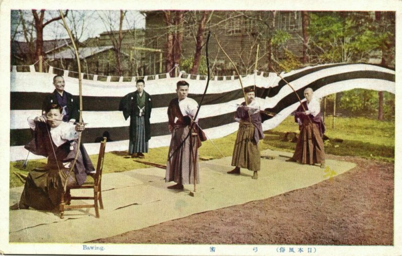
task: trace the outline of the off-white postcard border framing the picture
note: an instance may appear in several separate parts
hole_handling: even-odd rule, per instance
[[[331,245],[301,245],[302,247],[316,247],[318,253],[312,255],[400,255],[401,245],[401,179],[402,179],[402,125],[401,125],[401,51],[402,38],[402,1],[397,0],[338,0],[338,1],[312,1],[312,0],[274,0],[274,1],[241,1],[230,0],[230,5],[224,1],[113,1],[113,7],[128,10],[229,10],[228,7],[236,7],[237,10],[332,10],[332,11],[395,11],[396,12],[396,62],[395,62],[395,185],[394,185],[394,245],[393,246],[331,246]],[[103,251],[89,251],[82,249],[84,244],[49,244],[49,243],[9,243],[9,160],[10,160],[10,11],[14,9],[71,9],[92,10],[94,6],[98,10],[107,10],[111,7],[111,1],[27,1],[27,0],[3,0],[0,2],[0,72],[1,72],[1,100],[0,106],[2,130],[0,139],[1,171],[0,171],[0,254],[138,254],[138,255],[288,255],[289,253],[276,252],[281,245],[257,245],[257,252],[250,252],[250,248],[256,245],[150,245],[150,244],[94,244],[104,246]],[[222,234],[224,235],[224,234]],[[216,247],[215,252],[209,250],[210,246]],[[289,247],[290,245],[285,245]],[[294,247],[297,247],[295,245]],[[294,255],[299,253],[294,253]],[[303,254],[305,255],[305,254]]]

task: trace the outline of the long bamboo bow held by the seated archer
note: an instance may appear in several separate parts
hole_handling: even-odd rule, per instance
[[[67,30],[68,36],[69,36],[70,39],[71,39],[71,43],[72,43],[72,46],[74,47],[74,51],[75,51],[75,57],[77,58],[77,64],[78,64],[78,86],[79,86],[79,122],[82,122],[82,81],[81,81],[81,63],[80,63],[80,61],[79,61],[78,49],[77,49],[77,46],[75,45],[75,42],[74,42],[74,38],[73,38],[73,36],[72,36],[72,33],[71,33],[70,29],[68,28],[67,23],[66,23],[65,20],[64,20],[64,15],[63,15],[63,13],[61,12],[61,10],[59,10],[59,13],[60,13],[61,20],[63,21],[64,28]],[[81,134],[82,134],[81,132],[78,133],[77,152],[75,153],[74,161],[72,162],[72,165],[71,165],[71,167],[70,167],[70,172],[68,173],[67,179],[66,179],[66,181],[65,181],[65,184],[64,184],[64,191],[66,191],[66,188],[67,188],[67,180],[68,180],[68,177],[69,177],[69,176],[71,175],[71,173],[73,172],[75,163],[77,162],[77,158],[78,158],[78,154],[79,154],[80,146],[81,146]]]

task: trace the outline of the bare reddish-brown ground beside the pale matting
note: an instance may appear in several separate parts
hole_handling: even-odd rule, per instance
[[[159,244],[393,244],[393,163],[354,162],[314,186],[94,240]]]

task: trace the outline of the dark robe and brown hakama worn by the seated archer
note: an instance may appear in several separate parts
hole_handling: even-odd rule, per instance
[[[25,148],[35,155],[48,157],[48,163],[43,169],[29,172],[20,203],[38,210],[51,210],[60,203],[60,194],[67,177],[67,187],[82,185],[87,173],[94,168],[83,146],[78,149],[78,139],[66,141],[57,147],[47,124],[35,123],[34,139]],[[77,150],[79,152],[73,173],[68,175]]]

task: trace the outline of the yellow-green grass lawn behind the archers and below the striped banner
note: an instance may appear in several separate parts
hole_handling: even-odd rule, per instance
[[[394,121],[378,121],[364,117],[336,117],[335,129],[332,129],[332,123],[332,117],[327,117],[325,135],[329,137],[329,140],[325,142],[326,153],[339,156],[358,156],[387,162],[394,160]],[[260,143],[260,150],[273,149],[293,152],[295,143],[283,140],[286,132],[298,132],[298,126],[293,122],[293,116],[288,116],[275,129],[265,132],[264,141]],[[224,138],[213,140],[225,156],[232,155],[236,134],[233,133]],[[339,140],[335,139],[341,139],[343,142],[337,142]],[[166,165],[168,149],[168,147],[150,149],[144,161]],[[125,158],[127,154],[127,151],[106,153],[104,173],[150,167],[134,162],[131,158]],[[222,155],[210,141],[207,141],[203,142],[203,146],[199,148],[199,157],[217,159],[222,158]],[[92,163],[96,164],[97,155],[91,155],[90,158]],[[26,169],[22,168],[23,162],[10,162],[10,187],[23,185],[23,182],[13,172],[27,175],[29,170],[43,167],[47,160],[31,160]]]

